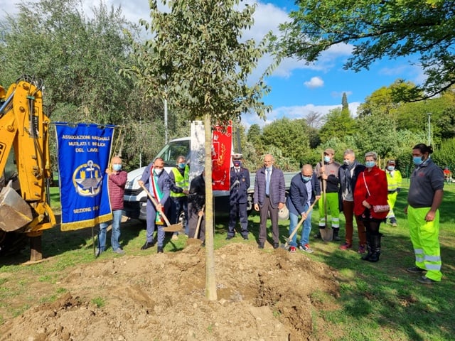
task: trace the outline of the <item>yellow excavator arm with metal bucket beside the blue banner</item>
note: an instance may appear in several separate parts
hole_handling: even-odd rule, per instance
[[[43,258],[41,236],[54,227],[49,205],[52,176],[43,82],[24,75],[0,86],[0,256],[30,241],[30,261]]]

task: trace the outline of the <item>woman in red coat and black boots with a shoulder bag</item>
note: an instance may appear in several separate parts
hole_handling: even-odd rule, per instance
[[[379,225],[385,221],[388,210],[375,212],[373,206],[387,205],[387,177],[385,171],[376,166],[378,154],[365,154],[365,171],[358,175],[354,189],[354,214],[363,221],[367,233],[367,251],[364,261],[379,261],[381,236]]]

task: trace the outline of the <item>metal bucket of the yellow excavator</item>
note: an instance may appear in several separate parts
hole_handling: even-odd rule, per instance
[[[13,232],[33,220],[30,205],[11,187],[0,192],[0,229]]]

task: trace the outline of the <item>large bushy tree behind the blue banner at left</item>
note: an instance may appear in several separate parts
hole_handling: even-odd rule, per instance
[[[44,82],[44,109],[53,121],[124,126],[126,163],[139,151],[156,153],[159,141],[144,144],[139,137],[145,129],[149,134],[161,109],[118,72],[131,63],[130,38],[138,37],[120,8],[100,1],[89,17],[79,0],[22,1],[16,15],[0,22],[0,32],[0,84],[35,75]]]

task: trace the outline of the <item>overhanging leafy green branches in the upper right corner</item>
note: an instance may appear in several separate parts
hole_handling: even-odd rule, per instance
[[[344,65],[359,71],[380,58],[417,55],[427,80],[422,88],[402,92],[422,99],[455,83],[455,7],[449,0],[346,1],[301,0],[291,22],[282,25],[279,48],[308,62],[340,43],[354,45]],[[425,91],[422,92],[422,89]]]

